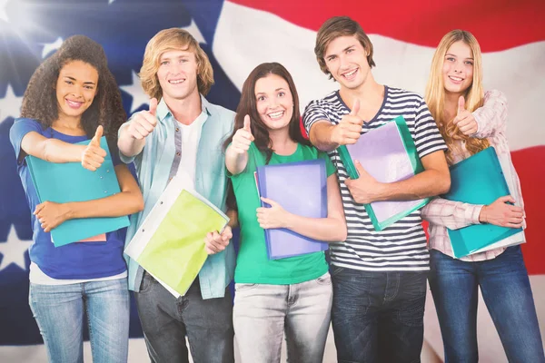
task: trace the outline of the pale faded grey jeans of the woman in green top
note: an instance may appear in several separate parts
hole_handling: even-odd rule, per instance
[[[234,334],[242,363],[322,362],[332,309],[332,280],[292,285],[235,284]]]

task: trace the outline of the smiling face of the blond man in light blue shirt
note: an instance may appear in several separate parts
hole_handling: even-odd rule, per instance
[[[184,100],[199,92],[198,64],[193,52],[181,50],[165,52],[159,58],[159,64],[157,78],[166,103]]]

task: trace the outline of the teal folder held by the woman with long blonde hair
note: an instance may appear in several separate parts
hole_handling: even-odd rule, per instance
[[[451,191],[442,197],[449,201],[490,204],[505,195],[510,195],[509,187],[498,154],[490,146],[451,166]],[[456,258],[467,256],[520,231],[521,228],[500,227],[490,223],[448,230]]]

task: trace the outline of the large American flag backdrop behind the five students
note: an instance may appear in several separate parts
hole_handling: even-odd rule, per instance
[[[46,361],[28,307],[30,211],[8,137],[38,64],[70,35],[93,38],[104,46],[125,111],[134,113],[148,103],[137,76],[145,44],[159,30],[182,27],[213,64],[209,101],[234,110],[253,67],[275,61],[291,72],[303,108],[338,87],[322,74],[313,54],[316,31],[332,15],[349,15],[370,34],[379,83],[421,94],[443,34],[461,28],[479,40],[485,89],[499,89],[509,102],[508,139],[528,222],[522,249],[545,335],[545,233],[540,229],[545,206],[545,1],[0,0],[1,362]],[[507,361],[482,300],[480,304],[481,361]],[[425,324],[425,361],[440,362],[441,333],[431,295]],[[131,338],[129,361],[147,361],[135,309]],[[330,337],[324,362],[334,361]]]

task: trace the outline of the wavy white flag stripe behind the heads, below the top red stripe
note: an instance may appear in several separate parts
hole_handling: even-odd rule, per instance
[[[252,31],[248,31],[252,29]],[[434,48],[370,34],[373,69],[379,83],[424,93]],[[313,53],[316,33],[277,15],[230,2],[223,4],[213,40],[213,54],[241,89],[253,67],[279,62],[292,74],[301,108],[338,85],[322,74]],[[545,42],[483,54],[485,89],[498,89],[509,102],[511,150],[545,144]],[[301,110],[301,111],[302,111]]]

